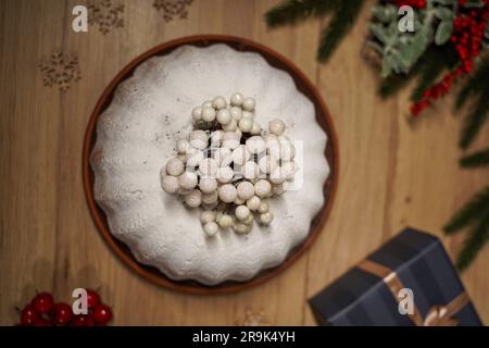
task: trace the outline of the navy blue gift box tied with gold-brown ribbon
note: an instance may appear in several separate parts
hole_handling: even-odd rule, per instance
[[[321,325],[482,325],[440,240],[413,228],[309,302]]]

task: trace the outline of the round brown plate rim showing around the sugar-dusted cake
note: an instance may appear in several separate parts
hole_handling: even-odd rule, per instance
[[[315,105],[316,121],[328,136],[325,156],[330,165],[330,174],[323,186],[324,204],[317,215],[311,222],[311,231],[308,238],[298,247],[289,252],[287,259],[278,266],[262,271],[254,278],[247,282],[224,282],[216,286],[205,286],[193,281],[173,281],[165,276],[158,269],[141,264],[136,261],[129,248],[116,239],[109,231],[106,216],[102,209],[97,204],[93,197],[93,172],[91,171],[89,158],[93,145],[96,142],[96,125],[99,115],[109,107],[113,98],[113,94],[117,85],[124,79],[130,77],[135,69],[147,59],[153,55],[164,55],[178,48],[181,45],[193,45],[198,47],[206,47],[213,44],[226,44],[239,51],[250,51],[260,53],[272,66],[281,69],[290,74],[297,88],[304,94]],[[223,294],[235,293],[261,284],[274,275],[277,275],[296,261],[316,239],[323,229],[326,219],[331,209],[335,198],[336,187],[338,186],[338,142],[333,126],[331,117],[326,109],[326,104],[322,100],[319,92],[308,77],[287,58],[264,47],[260,44],[248,39],[220,36],[220,35],[200,35],[176,39],[166,44],[162,44],[148,52],[139,55],[115,76],[103,91],[88,122],[87,133],[85,135],[84,153],[83,153],[83,177],[84,189],[87,196],[88,208],[93,216],[95,223],[102,235],[105,243],[117,254],[117,257],[130,269],[136,271],[142,277],[170,288],[172,290],[191,293],[191,294]]]

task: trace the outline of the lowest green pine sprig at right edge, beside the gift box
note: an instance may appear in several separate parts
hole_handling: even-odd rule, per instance
[[[474,261],[477,253],[489,239],[489,212],[482,216],[477,226],[474,227],[465,239],[461,252],[457,256],[456,268],[464,271]]]

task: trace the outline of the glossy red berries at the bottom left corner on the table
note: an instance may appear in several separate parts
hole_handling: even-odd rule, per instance
[[[54,303],[49,293],[38,294],[21,311],[22,326],[105,326],[112,319],[109,307],[100,301],[100,296],[87,289],[88,314],[74,314],[67,303]]]

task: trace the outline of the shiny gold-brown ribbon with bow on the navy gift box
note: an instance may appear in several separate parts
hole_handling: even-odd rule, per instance
[[[394,271],[369,260],[363,260],[358,264],[358,268],[380,277],[396,300],[398,300],[399,291],[405,286]],[[413,313],[408,313],[408,316],[416,326],[456,326],[459,320],[453,318],[453,315],[464,308],[468,301],[468,296],[464,291],[447,304],[432,306],[428,310],[426,318],[423,318],[416,304],[414,304]]]

